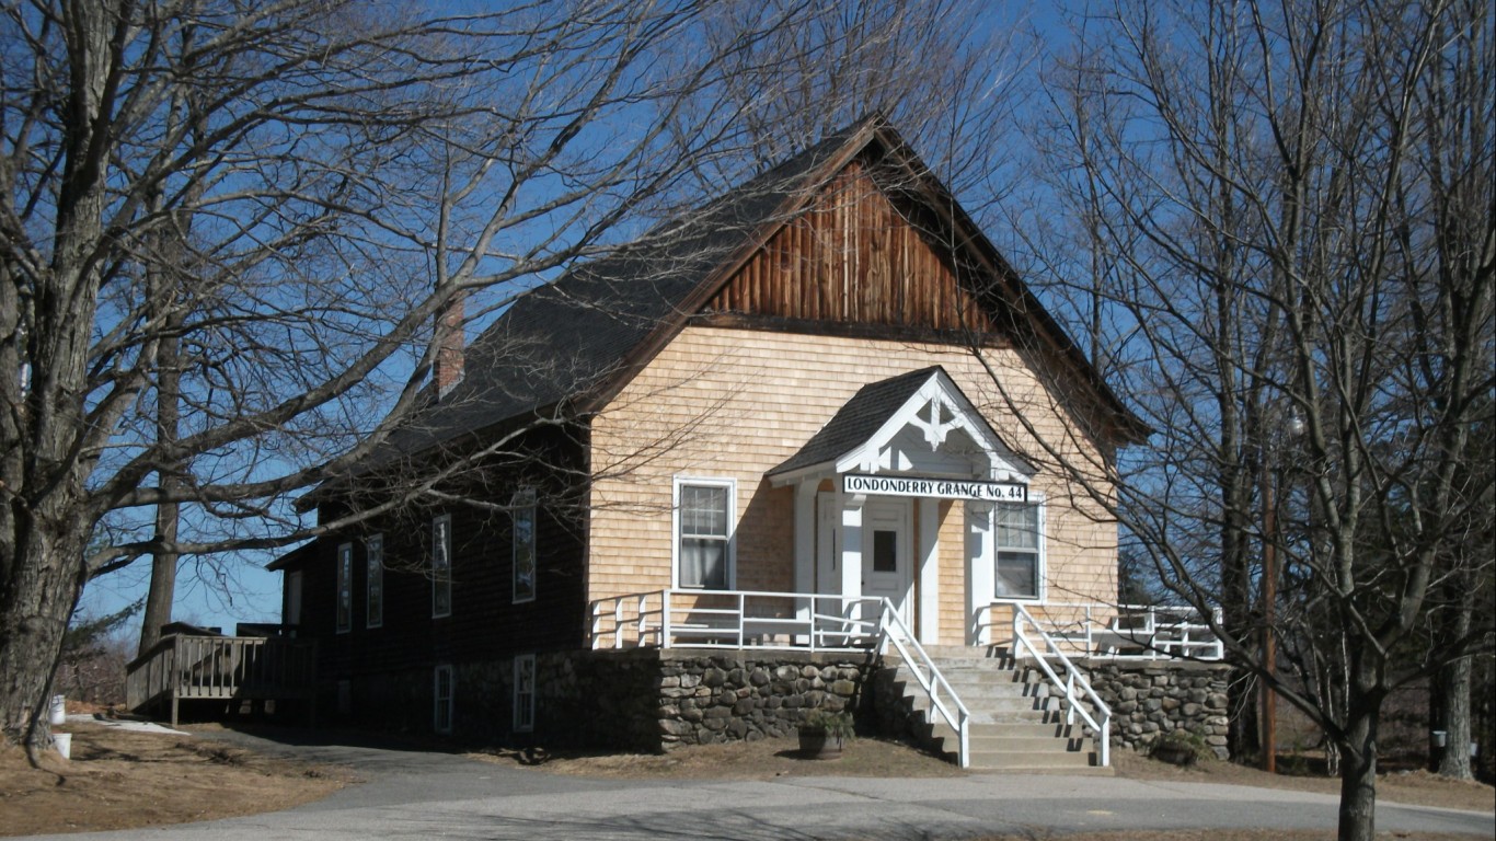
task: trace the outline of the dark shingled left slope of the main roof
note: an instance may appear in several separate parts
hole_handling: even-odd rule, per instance
[[[868,118],[838,132],[690,217],[521,296],[467,347],[462,382],[419,410],[362,468],[595,394],[651,334],[690,316],[693,293],[745,259],[824,180],[815,175],[860,148],[878,123]]]

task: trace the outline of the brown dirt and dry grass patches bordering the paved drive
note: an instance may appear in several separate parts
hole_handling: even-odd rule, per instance
[[[347,769],[311,766],[257,756],[212,741],[217,727],[193,736],[135,733],[99,724],[69,724],[73,760],[49,757],[33,769],[18,750],[0,753],[0,835],[124,829],[254,814],[325,798],[356,783]],[[437,745],[434,745],[437,747]],[[682,748],[666,756],[546,756],[485,750],[467,756],[515,763],[534,774],[573,774],[612,778],[775,778],[787,775],[838,777],[959,777],[957,768],[905,745],[860,738],[847,742],[839,760],[802,760],[793,741]],[[452,750],[440,745],[440,750]],[[1174,768],[1138,756],[1115,754],[1116,772],[1138,780],[1225,783],[1334,793],[1337,781],[1322,777],[1269,777],[1231,763],[1210,762]],[[165,796],[171,793],[171,796]],[[1490,786],[1442,780],[1414,772],[1378,781],[1378,796],[1402,804],[1493,811]],[[1252,829],[1210,832],[1085,834],[1067,841],[1310,841],[1324,834],[1263,832]],[[1384,838],[1454,841],[1454,835],[1384,834]],[[1040,841],[1043,837],[995,837],[992,841]]]

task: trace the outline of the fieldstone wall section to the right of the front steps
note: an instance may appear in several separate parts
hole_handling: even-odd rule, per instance
[[[1219,759],[1227,748],[1224,663],[1091,660],[1082,667],[1112,708],[1112,745],[1149,753],[1174,730],[1204,738]]]

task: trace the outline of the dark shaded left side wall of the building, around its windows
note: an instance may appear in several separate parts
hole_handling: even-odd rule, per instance
[[[546,461],[570,464],[570,470],[555,471],[549,483],[498,471],[491,480],[474,482],[467,495],[503,504],[521,485],[540,485],[536,599],[513,602],[513,522],[507,512],[453,503],[378,518],[352,536],[325,539],[302,579],[304,633],[320,640],[325,681],[582,645],[583,530],[576,522],[574,489],[560,483],[574,474],[580,447],[557,432],[531,438],[549,438],[537,443],[546,449]],[[443,513],[452,518],[452,614],[434,618],[432,521]],[[365,540],[373,534],[384,540],[384,618],[375,629],[367,627],[365,599]],[[353,543],[353,623],[347,633],[337,633],[337,549],[343,543]]]

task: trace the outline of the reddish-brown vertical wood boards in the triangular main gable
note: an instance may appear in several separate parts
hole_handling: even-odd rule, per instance
[[[992,331],[944,250],[857,163],[769,238],[708,305],[744,313],[931,331]]]

